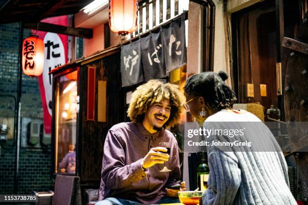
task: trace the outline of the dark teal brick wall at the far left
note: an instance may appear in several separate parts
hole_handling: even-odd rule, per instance
[[[6,1],[0,1],[0,5]],[[24,31],[24,38],[31,34]],[[0,95],[17,96],[17,72],[19,52],[19,24],[0,25]],[[0,121],[14,117],[12,97],[0,96]],[[21,117],[42,119],[42,105],[38,80],[23,74]],[[14,128],[12,128],[14,129]],[[0,142],[0,194],[14,192],[14,173],[16,168],[16,147],[4,147],[13,140]],[[20,148],[19,155],[19,193],[32,193],[32,190],[52,189],[50,179],[50,150],[31,150]]]

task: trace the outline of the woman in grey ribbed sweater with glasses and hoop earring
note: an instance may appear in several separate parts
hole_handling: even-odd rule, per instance
[[[234,130],[248,122],[251,128],[240,138],[228,138],[219,133],[207,136],[210,174],[200,204],[296,204],[289,190],[287,165],[277,141],[255,115],[233,110],[236,95],[225,84],[227,77],[223,71],[218,74],[204,72],[191,76],[185,84],[187,101],[184,108],[200,127],[210,129],[222,125],[224,130]],[[250,132],[246,132],[248,130]],[[221,148],[217,145],[220,140],[248,138],[261,141],[266,151],[256,147]]]

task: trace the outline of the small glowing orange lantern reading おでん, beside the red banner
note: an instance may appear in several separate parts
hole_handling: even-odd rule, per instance
[[[30,77],[42,74],[44,66],[44,42],[36,36],[30,36],[23,42],[23,71]]]

